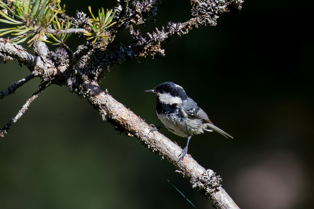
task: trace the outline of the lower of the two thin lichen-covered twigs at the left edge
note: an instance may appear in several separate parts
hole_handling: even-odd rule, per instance
[[[52,80],[52,79],[51,79]],[[8,129],[11,128],[11,126],[22,117],[24,112],[27,110],[28,106],[30,106],[30,103],[34,101],[38,97],[38,94],[40,94],[42,91],[44,91],[48,86],[52,84],[52,81],[45,81],[41,83],[39,89],[33,93],[33,95],[26,101],[26,103],[23,105],[22,109],[19,110],[18,114],[12,118],[5,126],[0,129],[0,138],[4,137],[4,134],[8,133]]]

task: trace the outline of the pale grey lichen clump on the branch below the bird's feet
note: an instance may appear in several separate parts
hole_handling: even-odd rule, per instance
[[[192,179],[191,184],[193,189],[204,197],[209,198],[212,193],[219,191],[221,177],[219,175],[216,176],[213,170],[208,169],[206,171],[201,177]]]

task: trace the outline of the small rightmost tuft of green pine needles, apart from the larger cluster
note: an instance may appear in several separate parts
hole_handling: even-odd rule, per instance
[[[109,11],[107,9],[106,13],[104,8],[101,8],[101,12],[100,9],[98,10],[98,17],[95,18],[94,14],[91,11],[91,8],[88,7],[90,14],[92,15],[92,18],[90,18],[88,20],[88,23],[90,25],[90,27],[92,28],[92,32],[88,32],[88,31],[84,31],[84,35],[88,36],[89,38],[87,38],[87,40],[90,39],[94,39],[93,40],[93,44],[98,41],[100,38],[107,38],[106,34],[105,34],[105,29],[109,28],[110,26],[114,25],[116,22],[111,23],[115,12],[112,13],[112,9]]]

